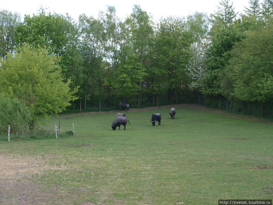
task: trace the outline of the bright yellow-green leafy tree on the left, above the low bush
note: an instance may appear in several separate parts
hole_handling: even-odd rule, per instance
[[[0,91],[25,103],[36,119],[58,114],[77,91],[69,88],[70,79],[63,82],[58,62],[45,48],[23,44],[1,62]]]

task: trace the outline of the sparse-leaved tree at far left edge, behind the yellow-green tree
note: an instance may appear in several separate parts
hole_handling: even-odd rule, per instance
[[[18,13],[0,11],[0,55],[2,59],[5,59],[5,55],[12,53],[15,49],[15,29],[19,21]]]

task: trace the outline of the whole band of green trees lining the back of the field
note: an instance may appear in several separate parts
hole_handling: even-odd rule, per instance
[[[77,20],[41,8],[21,21],[1,10],[0,97],[17,98],[34,121],[121,101],[186,103],[194,92],[271,103],[273,1],[248,3],[244,14],[222,0],[209,16],[158,22],[140,5],[125,19],[114,6]]]

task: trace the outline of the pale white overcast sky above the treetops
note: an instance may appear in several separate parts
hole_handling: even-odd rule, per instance
[[[222,0],[221,0],[222,1]],[[235,12],[244,12],[244,6],[248,7],[249,0],[230,0],[233,2]],[[106,11],[107,6],[115,6],[116,14],[120,18],[125,18],[132,13],[133,5],[140,5],[142,10],[150,13],[157,21],[160,17],[167,16],[187,16],[197,12],[205,12],[208,15],[214,13],[219,5],[219,0],[3,0],[0,9],[11,12],[25,14],[37,14],[41,5],[48,8],[46,11],[65,15],[68,13],[75,20],[80,14],[97,17],[99,10]]]

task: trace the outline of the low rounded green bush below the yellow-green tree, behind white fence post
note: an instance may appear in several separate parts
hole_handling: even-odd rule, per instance
[[[6,97],[0,94],[0,134],[8,133],[10,125],[11,133],[26,133],[28,123],[31,121],[31,113],[24,103],[17,98]]]

